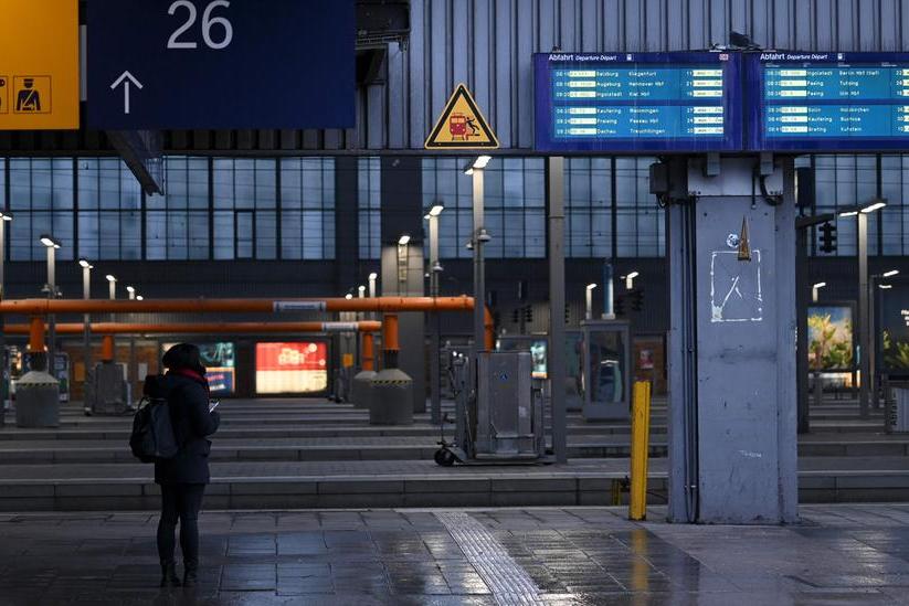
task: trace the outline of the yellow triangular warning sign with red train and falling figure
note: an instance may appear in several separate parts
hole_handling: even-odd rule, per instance
[[[426,149],[496,149],[499,142],[467,87],[458,84],[426,138]]]

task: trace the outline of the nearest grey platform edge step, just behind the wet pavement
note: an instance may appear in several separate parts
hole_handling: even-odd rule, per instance
[[[905,501],[909,471],[881,459],[808,459],[799,474],[800,500]],[[814,461],[824,461],[823,465]],[[804,463],[804,461],[803,461]],[[832,464],[833,465],[829,465]],[[155,510],[159,490],[150,466],[22,466],[0,468],[0,510]],[[627,459],[582,459],[567,466],[457,466],[431,461],[212,464],[208,509],[372,507],[530,507],[612,502]],[[652,461],[648,487],[666,493],[665,460]],[[651,502],[663,499],[651,497]]]

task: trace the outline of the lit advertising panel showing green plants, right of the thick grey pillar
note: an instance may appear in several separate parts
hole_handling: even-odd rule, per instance
[[[850,371],[855,366],[853,307],[808,306],[808,369]]]

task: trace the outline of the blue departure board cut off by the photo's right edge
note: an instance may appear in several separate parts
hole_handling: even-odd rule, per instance
[[[909,53],[746,55],[749,148],[909,149]]]

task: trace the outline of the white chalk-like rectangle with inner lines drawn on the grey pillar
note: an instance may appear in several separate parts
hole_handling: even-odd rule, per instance
[[[761,252],[751,251],[752,263],[739,261],[737,251],[714,251],[710,256],[710,321],[760,322]]]

